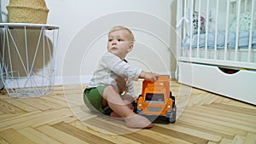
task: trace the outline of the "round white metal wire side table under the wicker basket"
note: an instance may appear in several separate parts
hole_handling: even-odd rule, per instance
[[[1,23],[1,78],[10,97],[38,97],[54,90],[59,27]]]

